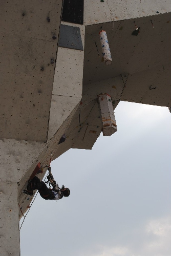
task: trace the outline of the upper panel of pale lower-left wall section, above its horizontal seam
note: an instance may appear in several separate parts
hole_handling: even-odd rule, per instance
[[[34,162],[35,157],[44,148],[44,143],[2,139],[0,140],[1,151],[1,181],[17,183],[27,169]],[[35,168],[35,167],[34,167]]]

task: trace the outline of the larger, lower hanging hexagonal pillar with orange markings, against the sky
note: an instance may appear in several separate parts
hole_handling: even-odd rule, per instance
[[[98,101],[101,112],[103,136],[111,136],[117,131],[111,96],[106,93],[99,94]]]

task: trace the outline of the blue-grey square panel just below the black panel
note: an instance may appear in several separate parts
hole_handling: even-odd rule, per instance
[[[83,51],[80,29],[60,25],[58,46]]]

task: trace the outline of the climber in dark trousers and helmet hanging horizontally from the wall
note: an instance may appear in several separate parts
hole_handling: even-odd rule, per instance
[[[45,182],[40,181],[39,178],[35,176],[32,180],[29,180],[27,190],[24,190],[23,192],[27,195],[32,196],[33,190],[38,189],[40,196],[46,200],[59,200],[62,197],[69,197],[70,189],[64,186],[59,188],[58,184],[56,184],[56,181],[53,178],[50,166],[48,166],[48,170],[49,175],[47,178],[50,184],[52,184],[53,186],[52,189],[48,188]]]

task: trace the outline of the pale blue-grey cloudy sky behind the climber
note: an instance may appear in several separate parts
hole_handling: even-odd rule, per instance
[[[51,163],[71,195],[36,197],[20,232],[22,256],[171,255],[171,113],[120,102],[115,117],[117,133]]]

